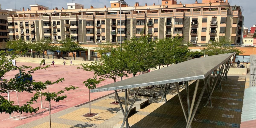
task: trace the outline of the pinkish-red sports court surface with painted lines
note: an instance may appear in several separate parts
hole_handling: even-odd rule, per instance
[[[17,66],[26,65],[26,66],[32,66],[37,67],[39,64],[37,63],[23,63],[23,62],[17,62]],[[55,65],[55,67],[51,66],[50,68],[47,68],[46,70],[39,70],[36,71],[35,74],[33,74],[33,80],[35,81],[42,81],[45,82],[47,80],[50,81],[56,81],[58,78],[64,77],[65,81],[63,83],[55,84],[49,86],[49,92],[57,92],[69,85],[74,85],[76,87],[79,87],[79,89],[66,92],[64,95],[67,95],[68,97],[64,101],[60,101],[58,103],[52,102],[52,111],[51,113],[56,113],[61,110],[65,110],[70,107],[74,107],[76,105],[85,103],[89,101],[89,91],[84,86],[83,81],[86,81],[88,78],[92,78],[94,76],[93,72],[87,72],[83,71],[82,69],[77,69],[78,66],[70,66],[67,64],[66,67],[63,67],[63,65]],[[13,78],[15,74],[17,74],[18,71],[11,71],[8,72],[5,75],[4,79],[10,79]],[[129,75],[132,76],[132,75]],[[126,79],[126,78],[124,78]],[[120,81],[120,78],[117,79],[117,81]],[[103,81],[98,87],[109,84],[114,82],[113,80],[106,79]],[[91,93],[91,100],[97,99],[99,97],[108,95],[110,93],[113,93],[114,91],[105,91],[105,92],[98,92],[98,93]],[[44,112],[40,115],[30,117],[23,120],[13,119],[9,118],[9,114],[2,113],[0,114],[0,127],[4,128],[14,128],[19,125],[31,122],[33,120],[42,118],[49,115],[49,112]]]

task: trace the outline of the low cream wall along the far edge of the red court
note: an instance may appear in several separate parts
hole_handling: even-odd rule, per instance
[[[29,57],[19,57],[15,59],[16,62],[29,62],[29,63],[40,63],[43,58],[29,58]],[[54,60],[54,64],[63,64],[64,61],[66,61],[66,65],[70,65],[70,60],[62,60],[62,59],[47,59],[45,58],[45,64],[50,65],[52,64],[52,61]],[[72,64],[74,65],[81,65],[84,63],[91,64],[92,61],[82,61],[82,60],[72,60]]]

